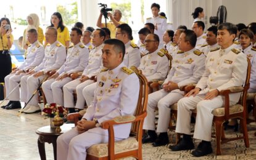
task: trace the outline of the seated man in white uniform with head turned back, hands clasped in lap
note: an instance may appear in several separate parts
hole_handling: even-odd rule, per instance
[[[197,83],[204,73],[205,56],[195,49],[196,34],[192,30],[181,33],[179,48],[180,52],[173,59],[172,68],[163,82],[163,89],[149,94],[147,103],[147,116],[144,119],[143,129],[147,134],[142,138],[142,143],[154,142],[153,146],[167,145],[169,142],[167,130],[170,121],[170,105],[177,103],[183,98],[184,91],[179,88],[187,84]],[[159,109],[157,132],[155,132],[155,109]]]

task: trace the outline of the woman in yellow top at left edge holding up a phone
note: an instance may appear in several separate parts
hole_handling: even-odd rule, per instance
[[[12,28],[8,18],[0,20],[0,82],[12,71],[12,61],[9,50],[12,47],[14,37],[11,34]]]

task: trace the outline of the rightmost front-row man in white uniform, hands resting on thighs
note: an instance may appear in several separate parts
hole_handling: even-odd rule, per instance
[[[221,49],[212,50],[205,60],[205,72],[196,85],[184,98],[178,102],[178,119],[176,132],[183,134],[177,145],[170,146],[173,151],[192,150],[194,143],[191,138],[191,110],[197,109],[194,138],[202,140],[197,149],[192,151],[194,156],[205,156],[212,153],[212,111],[223,106],[224,97],[221,90],[229,87],[242,86],[246,79],[246,55],[234,49],[233,40],[236,38],[236,25],[222,23],[218,26],[217,42]],[[240,93],[229,95],[229,104],[238,102]]]

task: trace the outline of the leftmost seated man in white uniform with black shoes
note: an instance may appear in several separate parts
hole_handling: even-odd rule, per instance
[[[6,108],[7,110],[20,108],[20,89],[17,87],[20,79],[25,75],[27,70],[32,70],[38,66],[44,58],[44,47],[38,41],[38,33],[35,29],[28,30],[27,39],[30,45],[26,50],[27,58],[25,62],[4,78],[6,95],[9,95],[10,92],[14,90],[12,94],[9,95],[9,103],[6,106],[2,106],[2,108]],[[16,89],[14,89],[15,87]]]

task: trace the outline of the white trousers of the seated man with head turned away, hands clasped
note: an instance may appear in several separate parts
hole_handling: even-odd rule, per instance
[[[183,94],[178,92],[165,92],[161,89],[149,94],[147,102],[147,116],[144,119],[143,129],[155,130],[155,108],[159,108],[159,120],[157,123],[157,132],[167,132],[171,109],[170,105],[183,98]]]

